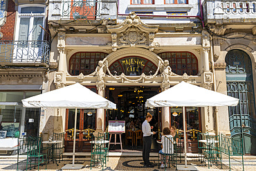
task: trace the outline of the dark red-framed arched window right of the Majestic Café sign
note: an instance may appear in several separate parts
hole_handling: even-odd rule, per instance
[[[165,52],[158,54],[163,60],[168,60],[172,72],[183,75],[197,75],[198,60],[194,54],[189,52]]]

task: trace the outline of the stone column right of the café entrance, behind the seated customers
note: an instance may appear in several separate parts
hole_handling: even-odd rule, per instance
[[[170,88],[169,82],[163,82],[161,84],[161,90],[165,91]],[[162,107],[162,129],[164,127],[170,127],[170,107]]]

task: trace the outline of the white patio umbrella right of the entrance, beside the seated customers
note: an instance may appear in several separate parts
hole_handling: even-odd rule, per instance
[[[185,107],[236,106],[238,102],[239,99],[237,98],[181,82],[147,99],[146,107],[183,107],[185,168],[188,168],[185,138]]]

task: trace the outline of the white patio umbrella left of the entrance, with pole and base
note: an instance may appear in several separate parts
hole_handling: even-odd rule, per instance
[[[80,83],[72,84],[61,89],[55,89],[21,100],[24,107],[53,107],[75,109],[76,132],[77,109],[116,109],[116,104],[94,93]],[[82,168],[83,165],[75,165],[75,135],[73,143],[73,163],[65,169]],[[65,165],[66,166],[66,165]]]

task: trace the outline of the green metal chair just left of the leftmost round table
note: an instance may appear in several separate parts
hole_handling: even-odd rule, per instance
[[[46,164],[47,168],[47,154],[42,153],[42,136],[38,137],[28,137],[28,152],[27,152],[27,162],[26,162],[26,170],[28,170],[28,165],[39,165],[42,163]]]

